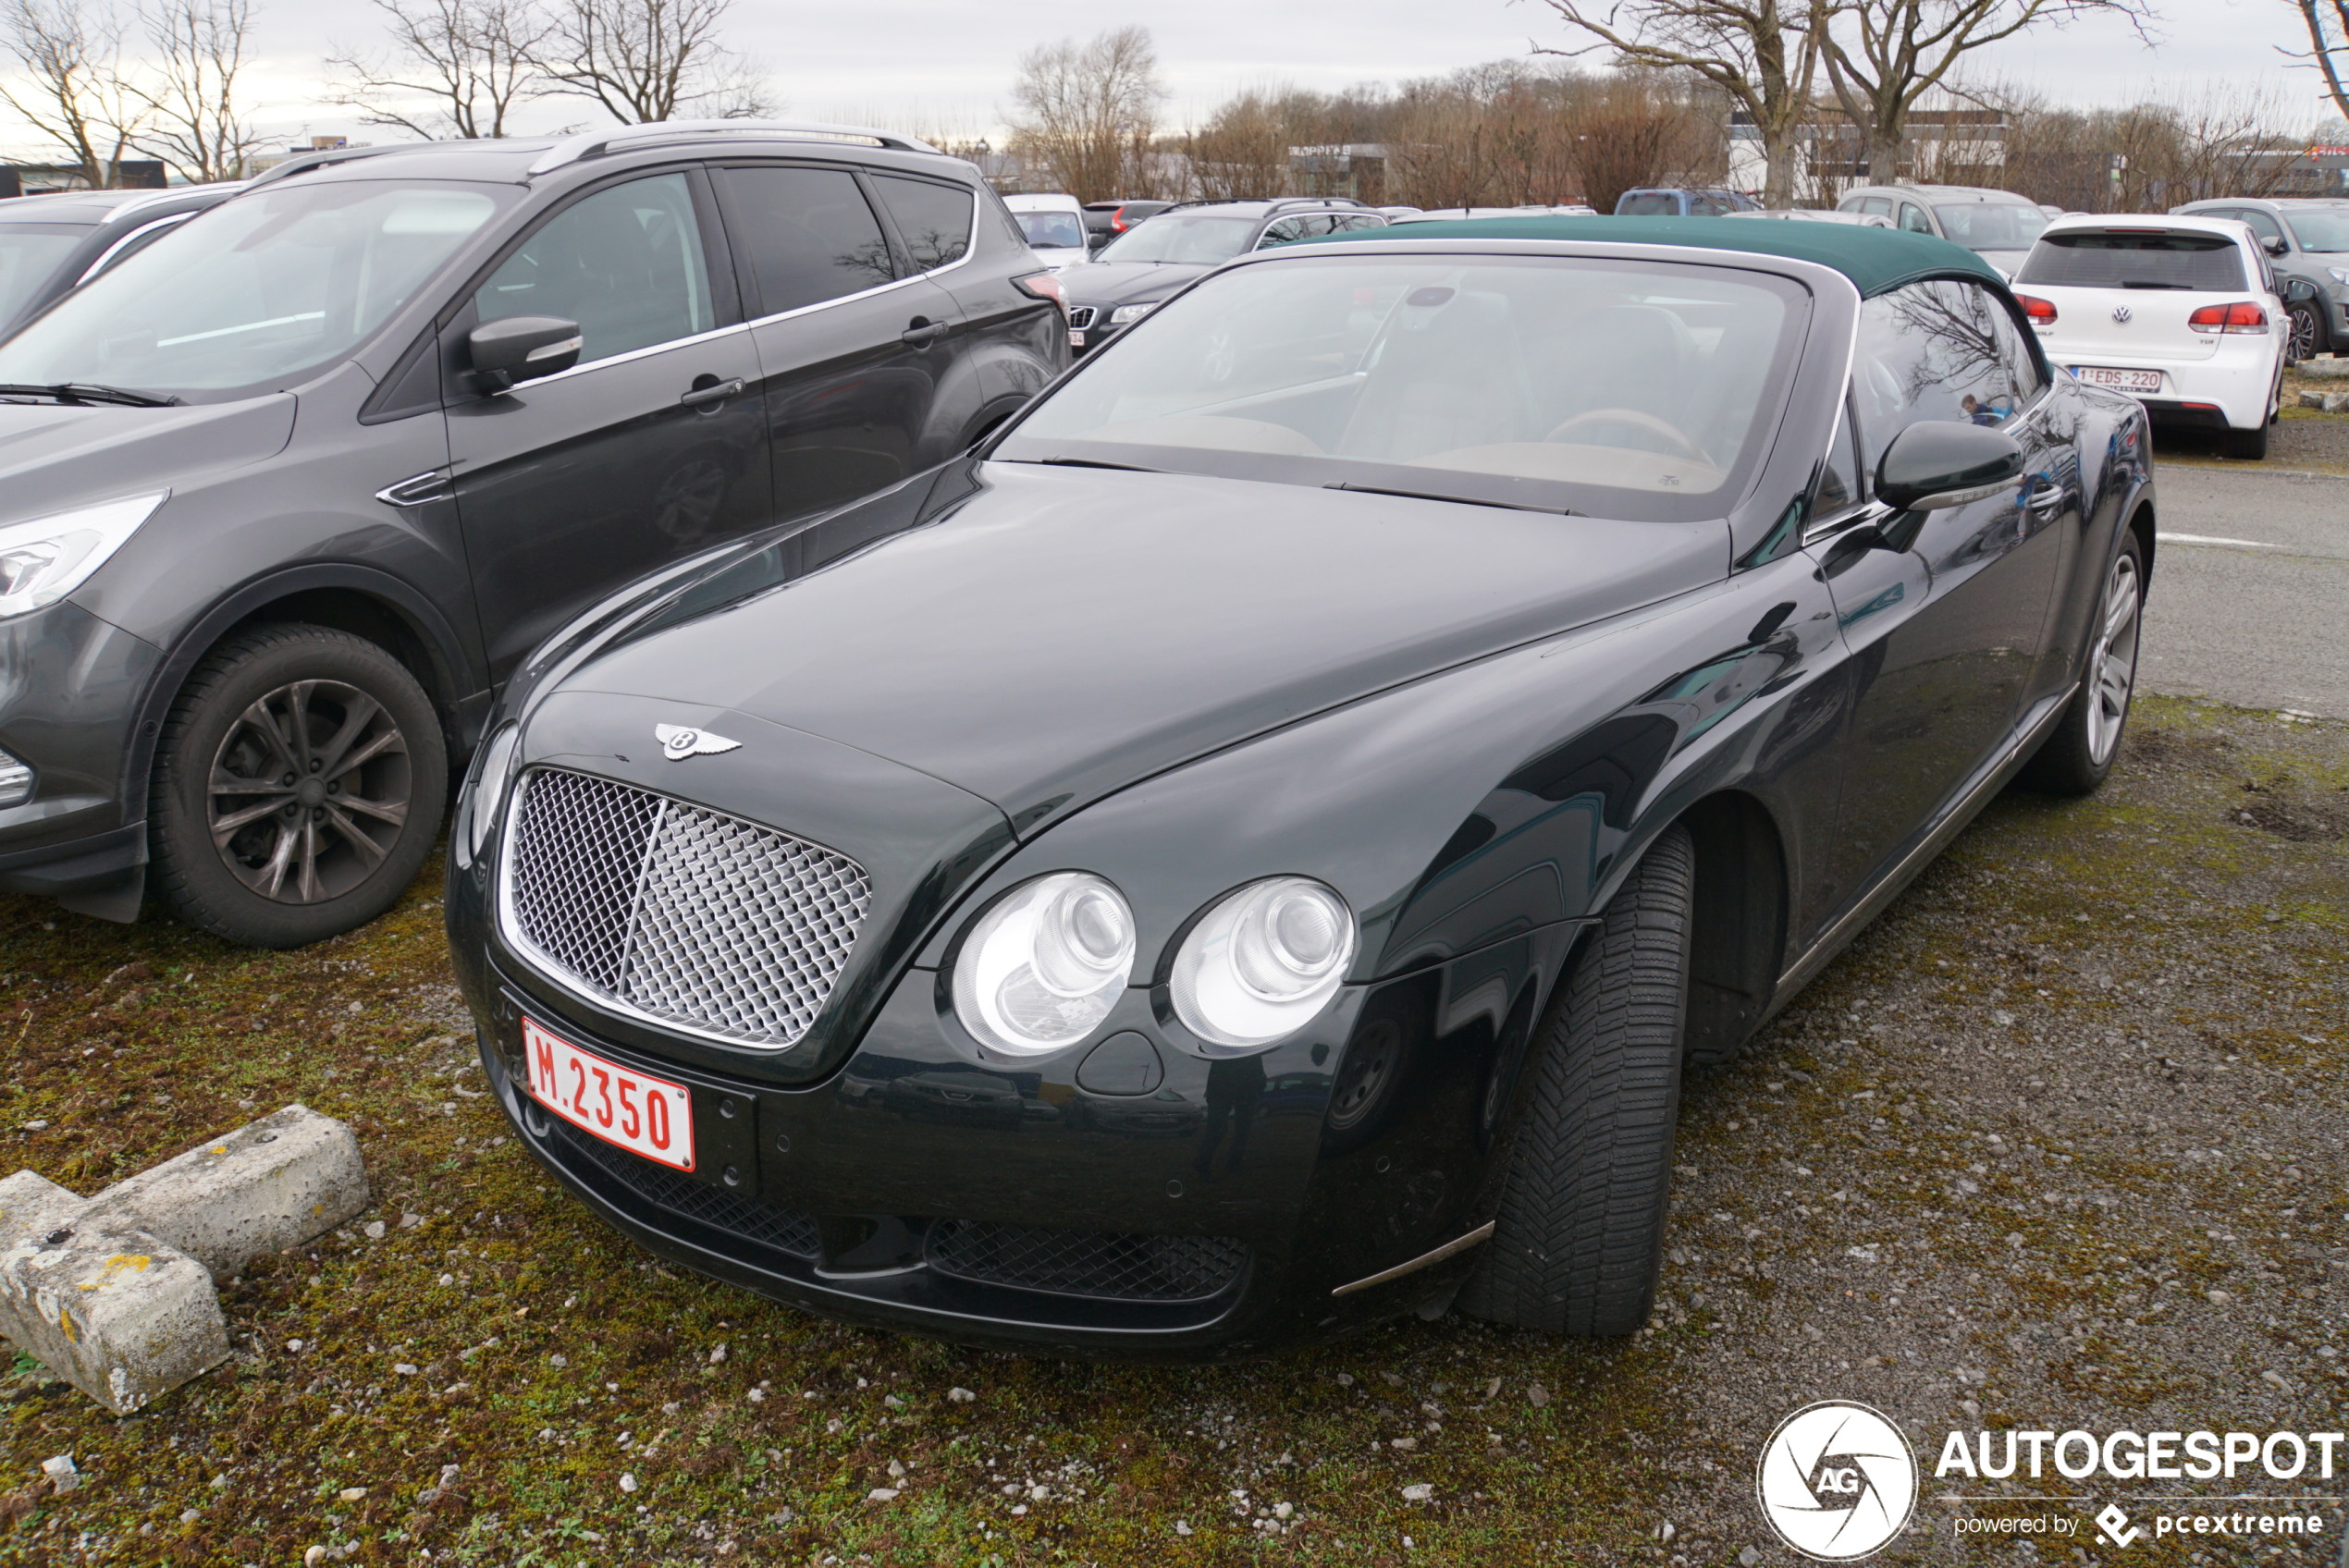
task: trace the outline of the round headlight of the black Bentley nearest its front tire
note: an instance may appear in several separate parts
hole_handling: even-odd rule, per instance
[[[1174,1016],[1212,1045],[1294,1035],[1337,995],[1353,941],[1353,911],[1320,883],[1250,883],[1210,908],[1174,953]]]

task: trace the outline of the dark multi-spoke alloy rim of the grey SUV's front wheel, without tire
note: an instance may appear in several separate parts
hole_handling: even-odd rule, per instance
[[[409,742],[343,681],[291,681],[228,725],[207,784],[211,845],[277,904],[319,904],[364,883],[409,819]]]

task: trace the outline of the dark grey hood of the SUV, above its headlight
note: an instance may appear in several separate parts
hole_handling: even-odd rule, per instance
[[[186,408],[0,404],[0,521],[169,491],[193,474],[261,462],[291,434],[287,392]]]

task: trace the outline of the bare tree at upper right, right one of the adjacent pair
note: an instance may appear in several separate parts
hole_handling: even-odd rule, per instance
[[[1860,136],[1867,178],[1900,178],[1910,110],[1945,87],[1976,49],[2004,42],[2030,26],[2079,16],[2126,16],[2140,31],[2147,0],[1813,0],[1811,35],[1825,56],[1828,82]]]

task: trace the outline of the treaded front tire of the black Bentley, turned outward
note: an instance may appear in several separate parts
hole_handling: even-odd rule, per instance
[[[1607,904],[1541,1023],[1475,1317],[1623,1336],[1656,1305],[1689,1014],[1696,845],[1668,829]]]

